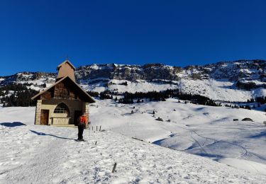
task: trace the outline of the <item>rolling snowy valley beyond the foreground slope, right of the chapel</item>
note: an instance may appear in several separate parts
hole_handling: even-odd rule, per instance
[[[266,143],[266,127],[262,123],[266,116],[263,112],[177,103],[174,99],[134,105],[99,100],[91,112],[94,127],[101,125],[105,130],[128,137],[266,175],[266,149],[262,146]],[[157,117],[164,122],[155,120]],[[254,122],[241,121],[245,117]]]

